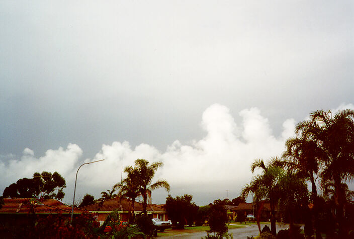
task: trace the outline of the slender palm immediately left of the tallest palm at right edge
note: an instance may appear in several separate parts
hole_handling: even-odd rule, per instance
[[[295,171],[298,176],[311,182],[316,237],[321,238],[316,181],[321,170],[322,150],[315,141],[302,137],[299,131],[297,131],[297,136],[297,138],[289,138],[286,141],[286,151],[283,153],[283,157],[287,158],[287,165],[290,170]]]

